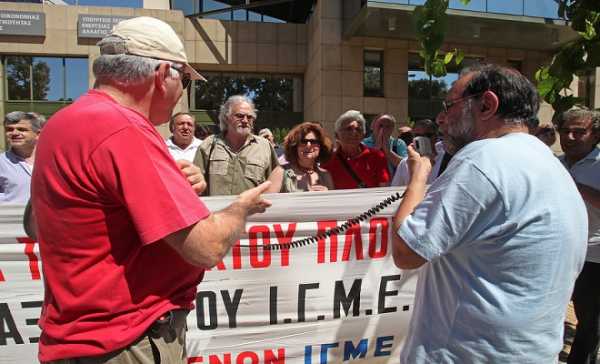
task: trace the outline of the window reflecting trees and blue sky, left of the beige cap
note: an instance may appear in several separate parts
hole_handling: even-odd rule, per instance
[[[88,89],[87,58],[4,58],[7,100],[72,101]]]

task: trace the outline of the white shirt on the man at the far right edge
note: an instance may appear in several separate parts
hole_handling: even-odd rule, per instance
[[[577,183],[600,192],[600,148],[595,147],[585,158],[569,168],[564,155],[558,157]],[[600,209],[585,201],[589,219],[589,239],[586,261],[600,263]]]

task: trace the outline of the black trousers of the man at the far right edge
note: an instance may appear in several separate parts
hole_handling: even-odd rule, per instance
[[[595,364],[600,343],[600,263],[585,262],[575,281],[577,331],[568,364]]]

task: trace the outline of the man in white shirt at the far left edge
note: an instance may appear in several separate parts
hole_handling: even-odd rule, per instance
[[[0,203],[29,200],[31,173],[44,118],[33,112],[13,111],[4,117],[8,150],[0,154]]]

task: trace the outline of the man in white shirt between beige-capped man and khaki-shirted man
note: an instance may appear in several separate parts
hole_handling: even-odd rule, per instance
[[[194,136],[196,130],[196,120],[192,114],[179,112],[169,121],[169,130],[173,134],[165,140],[169,153],[173,159],[185,159],[189,162],[194,161],[196,150],[202,143],[202,140]]]

